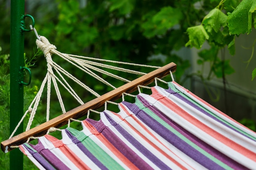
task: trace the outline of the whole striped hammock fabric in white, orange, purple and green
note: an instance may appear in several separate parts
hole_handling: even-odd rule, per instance
[[[256,133],[176,82],[20,150],[41,170],[256,169]]]

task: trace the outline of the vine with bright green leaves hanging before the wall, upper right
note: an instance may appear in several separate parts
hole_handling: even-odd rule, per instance
[[[211,2],[218,2],[211,0]],[[223,11],[222,9],[226,11]],[[218,58],[218,51],[227,46],[229,53],[235,55],[235,35],[243,33],[250,33],[252,31],[252,20],[255,19],[256,1],[243,0],[239,3],[239,0],[221,0],[218,6],[212,9],[202,20],[201,25],[192,26],[187,29],[189,35],[189,41],[186,46],[195,47],[200,49],[205,41],[211,46],[208,51],[211,55],[207,60],[202,56],[205,51],[199,53],[201,59],[198,60],[198,64],[204,65],[205,62],[211,62],[211,69],[207,79],[211,77],[213,72],[217,78],[224,77],[234,73],[234,69],[229,64],[229,60],[225,60],[222,56]],[[226,12],[226,13],[224,13]],[[255,23],[255,20],[254,20]],[[255,42],[254,42],[255,43]],[[217,51],[215,50],[217,48]],[[254,51],[254,46],[252,47]],[[214,50],[214,57],[212,51]],[[253,52],[249,62],[252,60]],[[203,68],[203,67],[202,67]],[[201,73],[201,72],[199,72]],[[252,73],[252,79],[254,73]],[[204,79],[200,74],[199,77]]]

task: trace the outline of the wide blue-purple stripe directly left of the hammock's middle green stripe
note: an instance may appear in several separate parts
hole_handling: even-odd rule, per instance
[[[142,102],[145,103],[146,100],[137,95],[137,98]],[[186,155],[200,163],[202,166],[212,169],[212,170],[221,170],[224,169],[215,162],[213,162],[208,157],[205,157],[201,152],[187,144],[185,141],[180,139],[177,135],[175,135],[173,132],[162,126],[158,121],[150,117],[147,113],[145,113],[143,110],[140,110],[139,107],[137,107],[135,104],[130,104],[128,102],[123,102],[128,108],[131,108],[131,111],[135,113],[135,115],[143,121],[146,125],[148,125],[151,129],[153,129],[157,134],[162,136],[166,141],[168,141],[170,144],[184,152]],[[153,110],[154,113],[160,113],[159,110],[157,110],[153,106],[149,106],[151,110]],[[148,108],[149,108],[148,107]],[[170,148],[171,149],[171,148]]]

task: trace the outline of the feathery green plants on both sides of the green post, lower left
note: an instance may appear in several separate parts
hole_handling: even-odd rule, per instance
[[[9,54],[2,54],[2,48],[0,47],[0,141],[4,141],[9,138],[9,93],[10,93],[10,60]],[[34,62],[32,59],[34,57],[26,57],[26,66],[33,66]],[[36,92],[38,91],[36,86],[25,86],[24,88],[24,108],[28,107],[27,105],[34,99]],[[25,111],[24,110],[24,111]],[[25,170],[36,170],[36,166],[32,164],[27,157],[25,159]],[[5,154],[0,152],[0,169],[8,170],[9,169],[9,153]]]

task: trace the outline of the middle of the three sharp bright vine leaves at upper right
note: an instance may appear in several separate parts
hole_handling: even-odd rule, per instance
[[[227,15],[219,9],[213,9],[204,17],[202,24],[210,25],[217,33],[221,26],[227,26]]]

